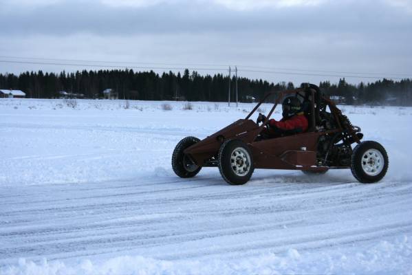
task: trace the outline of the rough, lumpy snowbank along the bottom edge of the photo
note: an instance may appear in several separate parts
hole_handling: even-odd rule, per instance
[[[412,244],[404,236],[392,242],[380,241],[362,250],[299,252],[290,248],[248,259],[220,261],[162,261],[143,256],[118,256],[101,263],[82,260],[67,266],[63,261],[40,263],[19,259],[3,267],[5,275],[105,275],[105,274],[412,274]]]

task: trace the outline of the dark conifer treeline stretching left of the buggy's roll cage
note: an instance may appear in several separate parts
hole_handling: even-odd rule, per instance
[[[61,74],[24,72],[19,76],[0,74],[1,89],[21,89],[30,98],[58,98],[59,91],[84,94],[85,98],[102,98],[104,89],[113,89],[119,98],[135,100],[226,101],[228,76],[200,76],[197,72],[161,75],[155,72],[125,70],[82,71]],[[276,85],[263,80],[238,79],[239,100],[242,96],[261,96]],[[235,80],[232,79],[235,89]],[[234,99],[234,98],[233,98]],[[232,100],[233,100],[232,99]]]

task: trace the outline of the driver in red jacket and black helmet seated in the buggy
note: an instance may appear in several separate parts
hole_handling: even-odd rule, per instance
[[[301,111],[301,101],[295,96],[288,96],[282,102],[282,116],[280,121],[271,119],[268,121],[269,129],[265,133],[270,137],[303,133],[307,130],[308,122],[303,111]],[[258,118],[258,122],[265,121],[265,116]]]

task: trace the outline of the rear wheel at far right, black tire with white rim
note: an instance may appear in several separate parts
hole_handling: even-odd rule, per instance
[[[388,166],[387,151],[378,142],[360,142],[354,148],[351,157],[351,172],[363,184],[380,181],[387,173]]]

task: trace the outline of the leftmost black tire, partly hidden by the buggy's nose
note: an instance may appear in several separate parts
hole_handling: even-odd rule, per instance
[[[172,155],[172,168],[179,177],[195,177],[200,169],[202,169],[202,166],[194,164],[191,159],[183,153],[184,149],[199,141],[197,137],[184,137],[183,140],[177,143]]]

